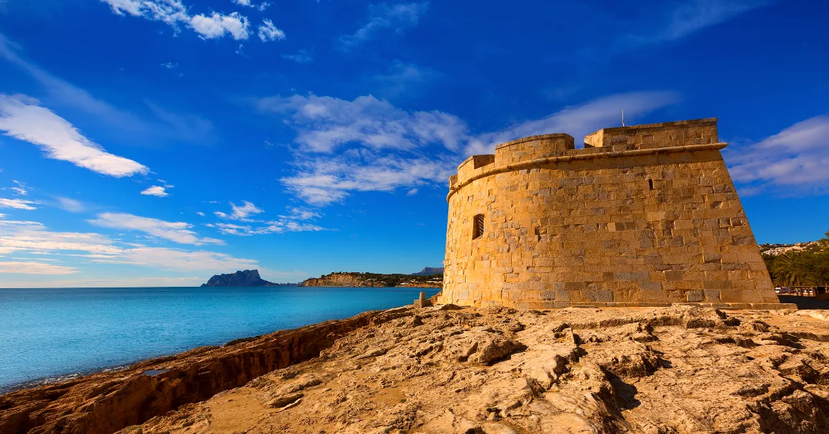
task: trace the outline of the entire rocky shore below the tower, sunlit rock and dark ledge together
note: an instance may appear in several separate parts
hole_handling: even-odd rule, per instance
[[[0,432],[827,432],[820,311],[366,312],[0,397]]]

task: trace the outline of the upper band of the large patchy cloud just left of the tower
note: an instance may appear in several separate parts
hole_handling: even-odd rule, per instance
[[[259,110],[289,115],[298,130],[294,140],[303,149],[332,152],[342,144],[358,143],[372,149],[414,149],[443,144],[457,149],[467,136],[467,125],[441,111],[409,113],[374,96],[353,101],[330,96],[274,96],[258,102]]]

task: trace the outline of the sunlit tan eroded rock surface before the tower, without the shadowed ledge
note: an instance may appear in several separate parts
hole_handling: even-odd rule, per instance
[[[789,311],[405,310],[123,432],[829,432],[827,334]]]

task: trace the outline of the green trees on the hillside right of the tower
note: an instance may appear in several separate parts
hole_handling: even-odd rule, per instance
[[[829,284],[829,231],[803,251],[763,255],[774,285]]]

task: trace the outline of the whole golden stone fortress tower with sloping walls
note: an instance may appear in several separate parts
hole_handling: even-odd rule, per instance
[[[781,305],[720,155],[717,119],[499,144],[449,178],[440,303]]]

